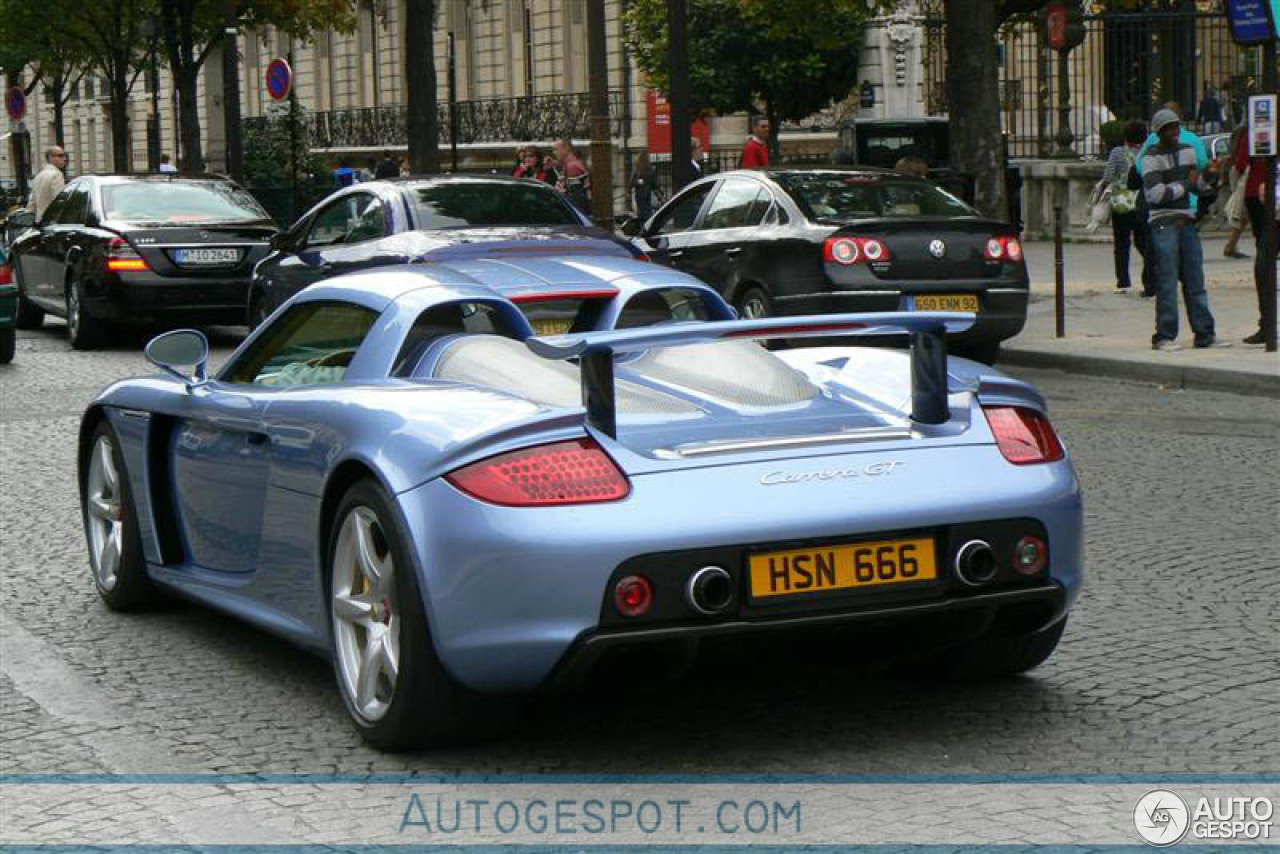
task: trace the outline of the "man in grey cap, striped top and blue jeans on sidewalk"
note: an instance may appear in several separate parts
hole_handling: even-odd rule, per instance
[[[1196,347],[1226,347],[1213,334],[1213,314],[1204,291],[1204,257],[1192,196],[1217,184],[1217,166],[1201,174],[1196,151],[1179,140],[1180,123],[1172,110],[1158,110],[1151,122],[1160,143],[1140,160],[1142,192],[1149,209],[1148,252],[1155,260],[1156,334],[1153,350],[1178,350],[1178,278],[1181,273],[1187,320]]]

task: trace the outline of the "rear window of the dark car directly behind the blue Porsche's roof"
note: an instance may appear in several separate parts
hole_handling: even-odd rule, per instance
[[[410,195],[422,228],[582,224],[545,184],[467,181],[415,187]]]

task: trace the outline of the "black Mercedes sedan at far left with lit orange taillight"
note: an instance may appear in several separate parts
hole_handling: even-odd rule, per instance
[[[13,243],[19,326],[58,315],[72,346],[90,350],[114,325],[242,324],[275,232],[224,178],[76,178]]]

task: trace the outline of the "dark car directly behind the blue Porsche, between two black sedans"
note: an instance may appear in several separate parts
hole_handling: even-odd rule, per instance
[[[308,284],[353,270],[500,255],[640,255],[548,184],[502,175],[355,184],[307,211],[271,248],[253,271],[255,328]]]

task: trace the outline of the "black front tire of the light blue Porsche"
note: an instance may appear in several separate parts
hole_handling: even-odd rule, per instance
[[[106,452],[110,453],[116,474],[116,481],[110,490],[95,490],[95,478],[92,469],[99,446],[106,443]],[[102,597],[102,602],[111,611],[145,611],[155,607],[161,599],[160,592],[147,576],[146,561],[142,557],[142,536],[138,533],[138,516],[133,503],[133,492],[129,489],[128,471],[124,467],[124,455],[120,452],[120,440],[111,429],[110,421],[102,419],[90,439],[88,452],[81,460],[79,487],[81,487],[81,521],[84,526],[84,542],[88,547],[90,570],[93,576],[93,586]],[[108,494],[110,492],[110,494]],[[95,547],[92,525],[101,525],[102,520],[91,511],[95,501],[114,499],[120,508],[119,520],[119,562],[114,571],[114,580],[105,579],[100,554]],[[99,529],[101,530],[101,529]]]

